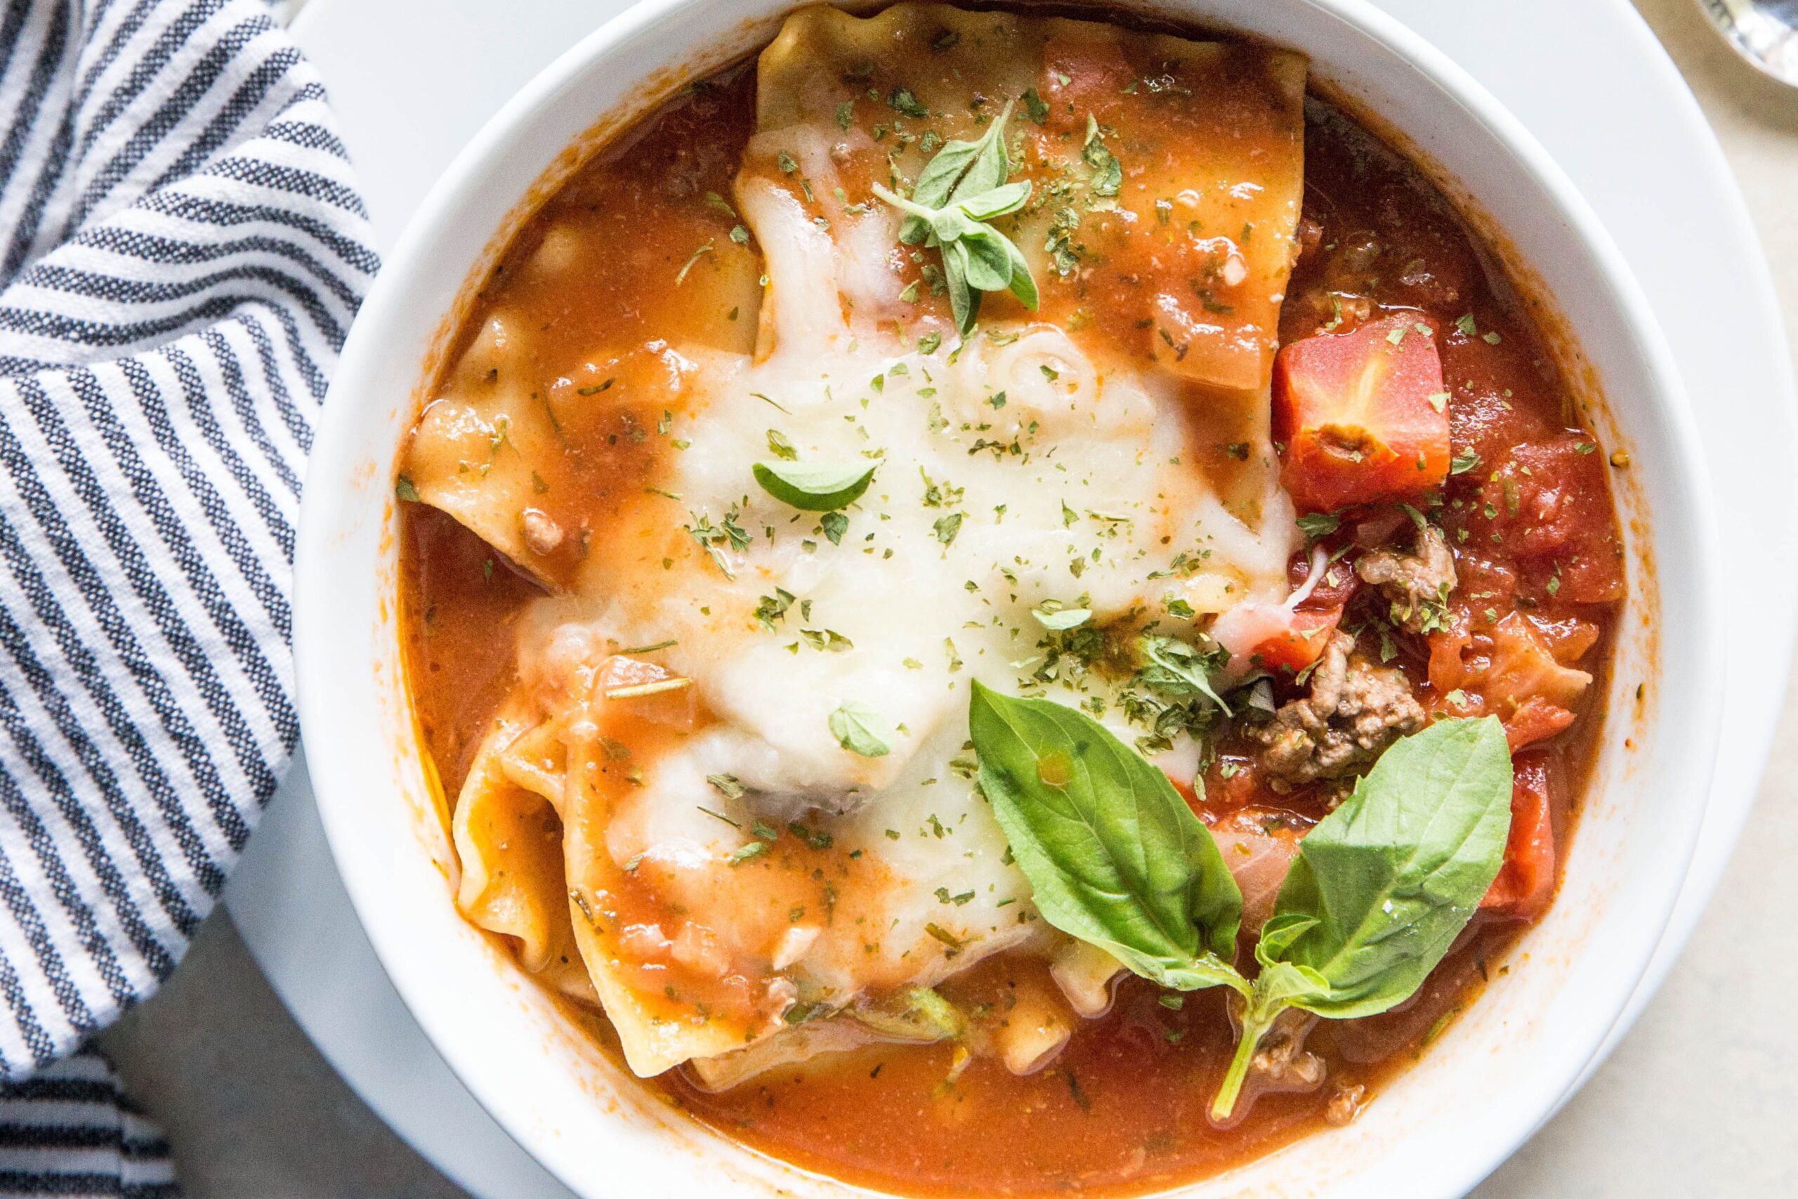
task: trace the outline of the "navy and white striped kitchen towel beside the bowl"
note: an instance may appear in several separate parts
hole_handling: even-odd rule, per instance
[[[68,1055],[293,751],[300,480],[374,270],[259,0],[0,2],[0,1194],[173,1188]]]

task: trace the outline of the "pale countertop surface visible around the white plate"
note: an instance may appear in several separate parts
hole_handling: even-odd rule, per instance
[[[1696,0],[1634,4],[1717,129],[1798,343],[1798,92],[1742,65]],[[1794,798],[1789,696],[1757,807],[1690,947],[1609,1062],[1476,1199],[1798,1194],[1798,1030],[1782,1001],[1798,994],[1798,956],[1780,951],[1798,911]],[[333,1073],[223,910],[164,990],[101,1041],[162,1122],[196,1199],[464,1194]]]

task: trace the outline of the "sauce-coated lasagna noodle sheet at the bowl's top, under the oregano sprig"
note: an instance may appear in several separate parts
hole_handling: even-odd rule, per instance
[[[1001,228],[1037,280],[1082,284],[1045,289],[1045,316],[1090,322],[1174,376],[1260,401],[1296,257],[1304,92],[1302,56],[1241,41],[940,4],[868,18],[816,5],[761,56],[739,191],[782,192],[829,223],[849,311],[906,318],[904,284],[886,270],[899,214],[870,189],[906,191],[940,138],[976,140],[1014,101],[1012,178],[1034,198]],[[1021,315],[998,295],[984,311]]]

